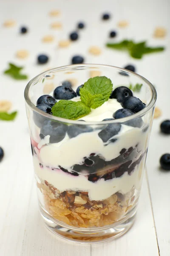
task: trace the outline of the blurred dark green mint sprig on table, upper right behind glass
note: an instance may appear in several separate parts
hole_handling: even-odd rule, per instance
[[[164,47],[147,47],[146,41],[135,43],[132,40],[123,40],[115,44],[106,44],[106,46],[113,49],[126,50],[131,57],[137,59],[141,59],[144,54],[162,52],[164,50]]]

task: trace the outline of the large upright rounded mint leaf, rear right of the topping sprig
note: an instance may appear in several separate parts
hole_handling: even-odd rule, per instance
[[[91,95],[102,94],[104,100],[107,101],[111,95],[113,84],[111,79],[105,76],[95,76],[88,79],[83,88],[88,90]]]

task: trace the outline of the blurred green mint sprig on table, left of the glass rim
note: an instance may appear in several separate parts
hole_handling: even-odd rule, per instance
[[[23,75],[20,73],[22,69],[23,67],[17,67],[16,65],[9,63],[9,68],[4,71],[4,74],[11,76],[16,80],[27,79],[28,78],[27,75]]]

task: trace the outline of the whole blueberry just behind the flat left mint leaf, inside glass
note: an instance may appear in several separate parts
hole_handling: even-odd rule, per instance
[[[58,86],[54,90],[55,99],[73,99],[77,94],[70,86]]]

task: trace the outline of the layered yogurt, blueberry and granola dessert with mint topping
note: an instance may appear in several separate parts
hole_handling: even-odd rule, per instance
[[[142,117],[122,118],[145,104],[127,87],[114,89],[103,78],[88,83],[94,92],[87,82],[77,92],[63,83],[53,96],[37,100],[37,108],[49,117],[33,116],[31,146],[41,206],[56,221],[74,227],[120,221],[139,197],[149,129]],[[98,79],[103,85],[95,92]],[[51,114],[65,122],[50,119]]]

